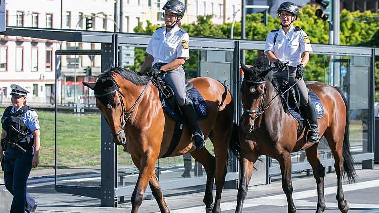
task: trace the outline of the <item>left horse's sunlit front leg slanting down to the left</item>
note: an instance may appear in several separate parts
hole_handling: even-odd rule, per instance
[[[151,181],[151,178],[154,174],[156,159],[157,157],[152,156],[143,156],[141,159],[140,173],[138,175],[137,184],[134,188],[131,199],[131,213],[138,213],[138,209],[141,206],[142,200],[144,199],[146,187],[148,186],[148,183]]]

